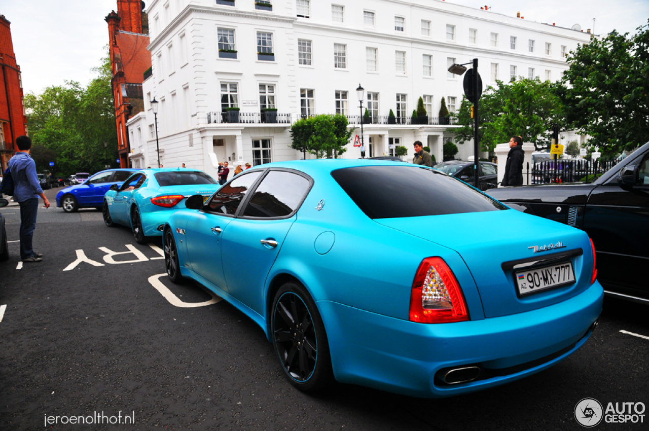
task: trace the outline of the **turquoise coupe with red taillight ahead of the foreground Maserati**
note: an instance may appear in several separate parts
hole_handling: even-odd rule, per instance
[[[130,227],[135,240],[145,243],[147,237],[162,236],[164,223],[185,208],[186,197],[208,199],[219,187],[210,175],[194,169],[142,169],[121,186],[110,186],[103,200],[104,223]]]

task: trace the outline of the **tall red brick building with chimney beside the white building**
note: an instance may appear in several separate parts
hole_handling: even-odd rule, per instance
[[[126,123],[144,110],[142,81],[144,72],[151,69],[151,53],[147,51],[149,25],[143,8],[140,0],[117,0],[117,13],[112,11],[106,16],[120,167],[129,167]]]

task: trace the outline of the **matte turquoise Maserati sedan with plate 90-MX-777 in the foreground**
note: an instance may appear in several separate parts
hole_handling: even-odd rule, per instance
[[[260,325],[288,380],[446,397],[532,375],[602,310],[587,234],[428,167],[265,164],[164,226],[167,274]]]

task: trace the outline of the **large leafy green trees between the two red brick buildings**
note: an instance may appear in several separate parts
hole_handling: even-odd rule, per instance
[[[45,88],[40,95],[25,95],[27,125],[34,147],[41,146],[56,154],[56,160],[47,160],[47,163],[55,162],[53,173],[56,175],[99,171],[104,169],[106,156],[113,161],[117,158],[107,51],[101,65],[93,71],[99,76],[85,88],[79,82],[66,81],[62,86]],[[104,141],[111,151],[104,149]]]

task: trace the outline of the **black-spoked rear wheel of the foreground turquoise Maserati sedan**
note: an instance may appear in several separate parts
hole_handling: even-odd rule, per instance
[[[295,388],[317,391],[334,383],[322,318],[300,284],[288,282],[277,291],[271,331],[277,358]]]

